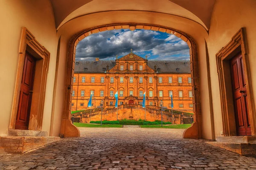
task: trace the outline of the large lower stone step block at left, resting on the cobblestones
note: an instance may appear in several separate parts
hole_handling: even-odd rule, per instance
[[[50,136],[0,136],[0,153],[25,153],[59,140]]]

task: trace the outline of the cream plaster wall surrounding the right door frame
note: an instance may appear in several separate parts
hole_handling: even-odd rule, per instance
[[[246,3],[245,3],[246,2]],[[231,40],[241,27],[246,28],[248,60],[254,105],[256,105],[256,1],[255,0],[216,0],[212,12],[207,46],[209,50],[212,104],[214,113],[215,137],[223,136],[220,89],[215,54]]]

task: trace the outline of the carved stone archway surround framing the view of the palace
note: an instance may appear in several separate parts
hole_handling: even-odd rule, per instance
[[[199,63],[198,63],[198,51],[197,45],[191,36],[188,34],[178,31],[173,28],[168,28],[164,26],[157,26],[151,24],[142,23],[117,23],[111,25],[97,26],[93,28],[88,28],[79,34],[73,35],[68,44],[68,54],[67,54],[67,71],[65,80],[65,99],[64,107],[61,121],[61,134],[64,137],[75,137],[80,136],[79,130],[71,124],[71,98],[72,98],[72,87],[73,87],[73,76],[75,67],[75,57],[76,57],[76,45],[84,39],[90,36],[90,34],[95,34],[102,31],[110,31],[114,29],[130,29],[134,31],[135,29],[145,29],[152,31],[166,32],[168,34],[174,34],[175,36],[184,40],[189,46],[190,55],[190,68],[191,68],[191,79],[192,79],[192,94],[193,94],[193,111],[194,111],[194,123],[191,127],[186,129],[183,133],[183,138],[202,138],[202,122],[201,122],[201,97],[200,97],[200,82],[199,82]],[[76,133],[74,133],[76,131]]]

